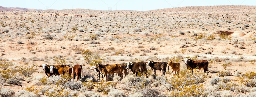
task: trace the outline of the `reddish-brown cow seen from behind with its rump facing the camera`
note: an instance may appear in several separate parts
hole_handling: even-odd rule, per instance
[[[77,81],[81,81],[81,76],[83,72],[83,67],[82,65],[75,65],[73,67],[73,81],[75,81],[75,77],[77,76]],[[79,80],[78,80],[79,79]]]

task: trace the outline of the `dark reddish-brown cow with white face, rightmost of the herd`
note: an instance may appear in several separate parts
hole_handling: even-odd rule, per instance
[[[190,70],[191,74],[193,74],[193,70],[195,68],[197,69],[200,69],[200,68],[204,68],[204,73],[207,72],[207,75],[208,75],[208,65],[209,65],[209,62],[207,60],[198,60],[198,61],[194,61],[194,60],[191,60],[191,59],[187,59],[185,58],[184,60],[182,60],[185,62],[185,65],[188,67],[188,69]]]

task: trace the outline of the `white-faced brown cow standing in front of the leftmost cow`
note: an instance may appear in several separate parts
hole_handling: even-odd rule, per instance
[[[50,72],[54,75],[67,75],[71,76],[72,68],[71,67],[56,67],[50,66]]]

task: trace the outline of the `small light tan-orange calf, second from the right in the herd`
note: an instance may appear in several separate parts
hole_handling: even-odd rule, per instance
[[[179,62],[173,62],[173,60],[172,61],[170,60],[168,63],[168,71],[169,71],[169,66],[172,69],[172,77],[173,77],[173,71],[174,71],[175,76],[179,75],[179,70],[180,70]]]

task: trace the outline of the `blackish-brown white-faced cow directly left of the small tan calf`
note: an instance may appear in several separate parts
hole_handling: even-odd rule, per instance
[[[152,70],[154,70],[154,74],[156,75],[156,70],[163,70],[162,76],[165,75],[167,64],[166,62],[153,62],[147,61],[147,66],[150,66]]]

